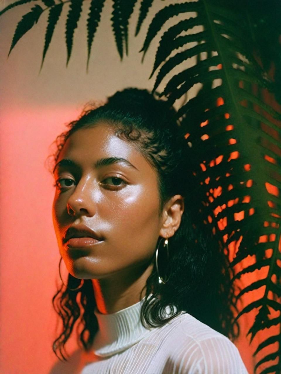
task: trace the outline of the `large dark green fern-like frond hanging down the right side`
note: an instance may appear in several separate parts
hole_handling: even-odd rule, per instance
[[[237,321],[258,309],[248,332],[252,341],[264,326],[281,325],[280,319],[269,318],[268,310],[271,307],[281,312],[280,301],[275,301],[281,297],[281,115],[262,99],[262,90],[274,91],[274,84],[254,58],[248,21],[232,5],[219,7],[215,1],[202,0],[165,7],[152,20],[142,51],[147,51],[172,16],[194,11],[196,17],[178,22],[161,37],[151,73],[152,76],[159,69],[153,91],[180,64],[182,71],[167,79],[160,96],[166,96],[172,105],[194,84],[203,85],[197,96],[178,111],[182,133],[188,133],[187,141],[192,145],[192,184],[201,186],[193,213],[196,224],[202,222],[202,230],[218,240],[229,255],[231,245],[241,238],[238,250],[231,255],[233,282],[257,269],[266,269],[262,278],[236,295],[237,300],[256,290],[262,295],[236,316]],[[202,26],[203,31],[201,27],[197,33],[193,30],[192,34],[182,35],[196,25]],[[175,53],[179,48],[185,50]],[[206,59],[191,67],[184,65],[188,58],[198,58],[202,52]],[[211,83],[217,79],[221,84],[213,88]],[[262,236],[271,239],[259,242]],[[241,270],[240,264],[245,264],[249,255],[256,257],[256,263]],[[268,346],[270,341],[263,343]],[[261,364],[270,365],[269,360],[276,355],[274,352],[259,360],[255,370]]]

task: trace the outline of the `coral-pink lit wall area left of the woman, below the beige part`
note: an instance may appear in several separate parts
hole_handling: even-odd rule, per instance
[[[48,147],[73,108],[1,113],[1,374],[48,373],[58,278]]]

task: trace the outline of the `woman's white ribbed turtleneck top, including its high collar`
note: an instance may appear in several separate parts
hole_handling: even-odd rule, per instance
[[[235,345],[188,313],[143,327],[143,300],[112,314],[95,309],[99,331],[81,374],[248,374]]]

